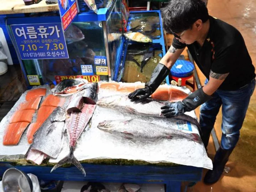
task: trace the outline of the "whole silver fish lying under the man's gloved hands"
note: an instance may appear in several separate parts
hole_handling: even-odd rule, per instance
[[[112,108],[124,113],[165,118],[161,113],[161,107],[165,104],[151,99],[145,99],[142,102],[133,102],[127,95],[113,95],[102,97],[97,101],[97,105],[105,108]],[[182,114],[173,118],[191,122],[200,129],[198,121],[191,116]]]

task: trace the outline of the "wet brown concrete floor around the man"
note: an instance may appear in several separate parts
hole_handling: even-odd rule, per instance
[[[256,66],[256,0],[209,0],[208,10],[211,16],[217,17],[236,27],[245,39],[247,49]],[[241,63],[242,67],[242,63]],[[197,69],[201,83],[203,74]],[[197,109],[199,114],[199,109]],[[231,168],[228,174],[214,185],[207,186],[199,182],[189,191],[194,192],[252,192],[256,191],[256,91],[251,97],[249,109],[241,129],[240,140],[231,154],[226,166]],[[218,114],[215,132],[221,138],[222,114]],[[209,157],[213,159],[215,148],[212,138],[208,146]],[[204,170],[204,174],[207,170]]]

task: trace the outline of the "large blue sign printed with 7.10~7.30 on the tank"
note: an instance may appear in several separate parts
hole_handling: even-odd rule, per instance
[[[69,58],[61,23],[11,25],[21,59]]]

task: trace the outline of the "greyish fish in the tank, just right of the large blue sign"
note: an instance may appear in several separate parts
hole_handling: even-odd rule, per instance
[[[85,38],[82,31],[75,25],[70,25],[64,32],[65,40],[67,44],[81,41]]]

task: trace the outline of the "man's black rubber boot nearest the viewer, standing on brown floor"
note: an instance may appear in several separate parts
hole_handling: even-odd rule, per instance
[[[218,149],[213,161],[213,170],[209,170],[204,177],[205,184],[210,185],[216,183],[219,180],[233,149],[224,150],[221,147]]]

